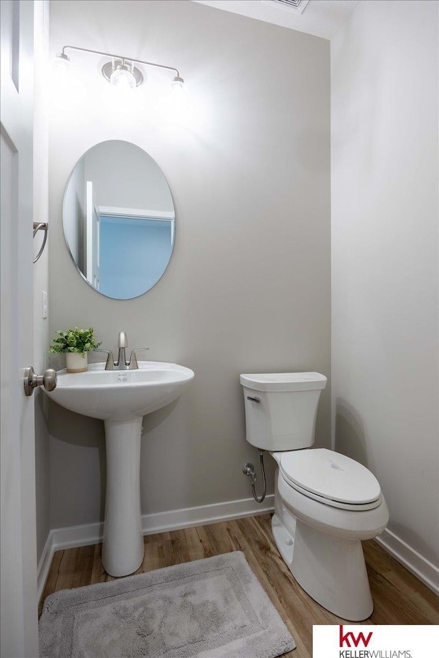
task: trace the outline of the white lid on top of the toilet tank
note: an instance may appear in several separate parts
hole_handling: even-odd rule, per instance
[[[244,374],[239,381],[254,391],[315,391],[327,385],[327,378],[320,372]]]

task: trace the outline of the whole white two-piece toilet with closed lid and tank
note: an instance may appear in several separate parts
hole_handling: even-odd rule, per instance
[[[299,585],[342,619],[373,610],[362,539],[388,524],[377,478],[344,454],[311,449],[320,393],[318,372],[243,374],[246,438],[278,465],[272,533]]]

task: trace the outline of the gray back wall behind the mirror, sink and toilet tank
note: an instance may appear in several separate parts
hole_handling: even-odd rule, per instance
[[[104,347],[120,330],[148,356],[195,371],[176,404],[145,418],[142,511],[248,498],[239,373],[330,375],[329,42],[188,1],[51,2],[51,51],[115,51],[177,66],[193,120],[172,126],[154,94],[121,106],[99,58],[72,53],[71,82],[51,99],[50,332],[95,327]],[[75,77],[76,75],[76,77]],[[154,75],[150,74],[153,83]],[[169,80],[156,75],[160,85]],[[62,234],[64,186],[93,144],[124,139],[163,170],[176,207],[165,275],[135,300],[85,284]],[[51,405],[51,526],[102,518],[102,423]],[[330,391],[317,445],[330,444]],[[267,460],[268,462],[270,459]],[[274,465],[268,464],[273,489]]]

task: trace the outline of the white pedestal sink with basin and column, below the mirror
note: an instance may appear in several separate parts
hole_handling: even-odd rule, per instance
[[[58,371],[53,391],[61,406],[105,424],[107,483],[102,565],[110,576],[128,576],[143,561],[140,507],[142,418],[176,400],[193,379],[193,371],[176,363],[139,361],[136,370]]]

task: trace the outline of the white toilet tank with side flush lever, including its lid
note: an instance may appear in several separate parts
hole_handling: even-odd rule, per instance
[[[239,380],[244,387],[246,439],[252,446],[261,450],[299,450],[313,445],[318,400],[327,385],[324,375],[244,374]]]

